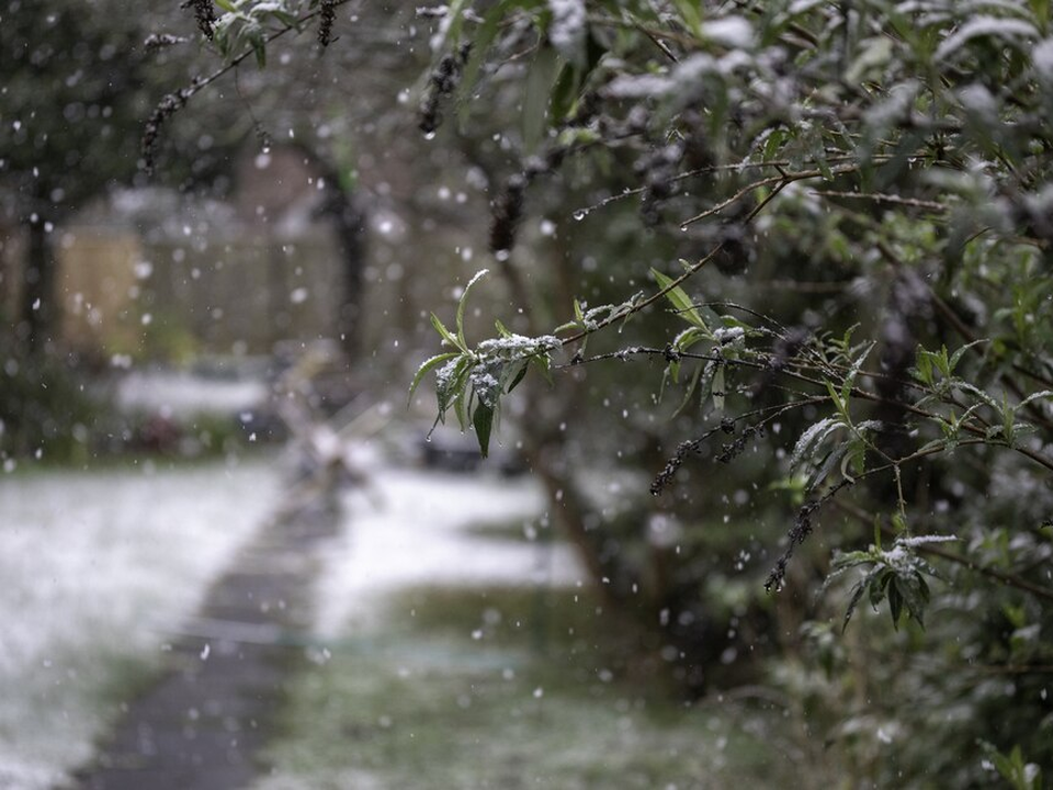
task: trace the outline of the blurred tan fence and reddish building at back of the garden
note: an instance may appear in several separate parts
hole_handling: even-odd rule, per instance
[[[112,193],[57,230],[60,336],[89,356],[270,353],[339,334],[347,260],[320,173],[295,148],[246,156],[228,200]]]

